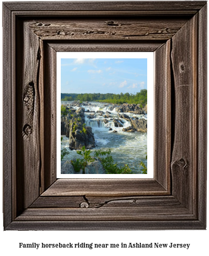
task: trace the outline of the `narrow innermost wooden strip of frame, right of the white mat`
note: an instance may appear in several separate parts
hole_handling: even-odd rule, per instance
[[[154,177],[167,191],[170,191],[171,188],[170,52],[171,42],[168,40],[166,44],[162,45],[155,51],[154,55]]]

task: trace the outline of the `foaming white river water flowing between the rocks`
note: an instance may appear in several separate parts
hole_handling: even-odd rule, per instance
[[[79,107],[73,106],[72,101],[61,101],[61,105],[70,105],[74,109],[78,109]],[[92,149],[92,156],[95,150],[108,150],[111,149],[111,155],[115,162],[118,163],[118,166],[124,166],[125,164],[129,165],[129,168],[133,171],[133,173],[141,173],[142,167],[140,166],[140,162],[143,161],[147,166],[147,132],[125,132],[122,129],[130,126],[130,122],[121,119],[123,127],[115,127],[113,118],[118,118],[118,113],[115,109],[110,110],[109,108],[113,105],[109,104],[107,106],[106,103],[97,103],[90,102],[91,106],[83,106],[86,110],[89,111],[98,111],[102,110],[103,112],[110,112],[109,114],[111,118],[105,118],[103,116],[96,116],[93,119],[89,119],[87,116],[92,114],[91,112],[85,112],[85,124],[86,126],[92,127],[92,132],[95,138],[95,148]],[[123,114],[120,112],[119,114]],[[144,118],[147,119],[147,115],[136,115],[134,113],[125,112],[127,116],[138,119]],[[105,115],[105,114],[104,114]],[[104,119],[108,120],[108,123],[104,123]],[[112,130],[109,130],[112,128]],[[116,130],[117,132],[113,132]],[[61,143],[61,148],[66,148],[70,154],[65,156],[63,160],[72,160],[73,158],[80,158],[80,156],[76,153],[76,150],[69,149],[69,138],[64,137]]]

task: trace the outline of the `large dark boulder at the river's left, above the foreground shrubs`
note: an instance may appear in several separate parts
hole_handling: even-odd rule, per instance
[[[72,125],[73,126],[73,125]],[[77,124],[76,130],[73,131],[73,128],[70,129],[69,136],[69,148],[73,149],[82,149],[83,146],[87,149],[92,149],[95,147],[94,134],[92,132],[92,128],[86,126],[86,133],[83,132],[82,127]]]

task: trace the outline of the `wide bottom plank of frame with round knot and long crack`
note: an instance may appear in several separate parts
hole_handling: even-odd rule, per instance
[[[49,201],[47,201],[49,199]],[[109,198],[98,204],[97,197],[68,197],[65,206],[63,197],[37,199],[16,221],[27,220],[195,220],[188,209],[172,196]],[[105,199],[103,199],[105,200]],[[46,201],[45,205],[43,201]],[[57,201],[57,202],[56,202]],[[88,207],[82,208],[84,201]],[[80,202],[79,206],[78,203]],[[59,205],[61,207],[59,207]],[[123,211],[121,210],[123,209]]]

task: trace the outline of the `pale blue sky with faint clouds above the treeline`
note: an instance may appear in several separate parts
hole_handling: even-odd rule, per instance
[[[147,89],[146,58],[61,58],[61,93],[137,93]]]

